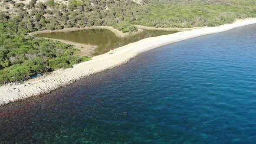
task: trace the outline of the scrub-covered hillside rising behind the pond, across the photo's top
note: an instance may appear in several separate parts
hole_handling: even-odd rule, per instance
[[[70,0],[45,3],[31,0],[15,3],[16,14],[2,12],[19,20],[30,21],[30,32],[70,27],[113,26],[126,33],[137,31],[134,25],[154,27],[201,27],[232,23],[237,18],[255,17],[255,0]],[[8,7],[8,5],[4,5]],[[3,9],[5,9],[3,7]],[[29,23],[27,23],[29,24]]]

